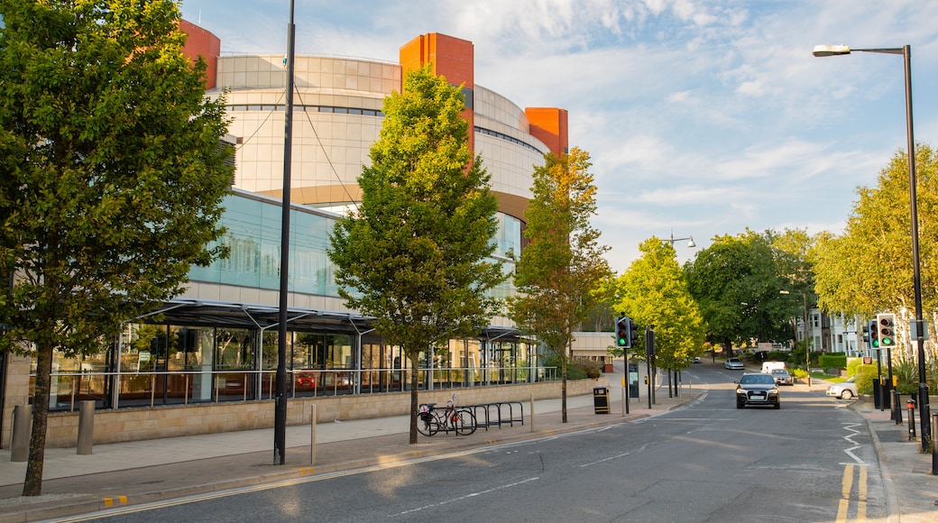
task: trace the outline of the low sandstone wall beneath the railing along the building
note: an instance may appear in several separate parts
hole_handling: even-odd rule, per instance
[[[567,382],[567,396],[593,394],[593,387],[609,386],[606,377]],[[421,403],[445,404],[457,395],[460,405],[522,401],[560,397],[560,381],[519,383],[488,387],[468,387],[421,391]],[[95,412],[95,443],[154,440],[176,436],[212,434],[233,430],[274,426],[274,400],[230,403],[201,403],[118,409]],[[310,406],[316,405],[319,422],[367,419],[406,414],[410,393],[359,396],[320,396],[290,399],[287,425],[310,423]],[[6,429],[6,425],[5,425]],[[46,444],[48,447],[74,447],[78,441],[78,412],[51,412]]]

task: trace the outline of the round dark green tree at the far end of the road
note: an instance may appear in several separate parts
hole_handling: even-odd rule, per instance
[[[733,346],[752,340],[786,339],[797,308],[780,291],[789,282],[779,274],[779,262],[769,239],[747,230],[714,238],[685,266],[688,289],[708,325],[709,341]]]

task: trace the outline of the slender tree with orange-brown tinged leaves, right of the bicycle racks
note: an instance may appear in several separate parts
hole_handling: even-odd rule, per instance
[[[524,213],[530,244],[515,272],[519,294],[507,298],[508,317],[537,339],[560,362],[561,411],[567,423],[567,363],[573,332],[600,304],[602,283],[610,275],[589,222],[596,214],[596,186],[589,155],[574,147],[568,154],[544,155],[534,172],[534,197]]]

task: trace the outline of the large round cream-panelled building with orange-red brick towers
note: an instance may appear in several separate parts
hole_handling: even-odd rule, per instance
[[[57,357],[50,410],[74,411],[95,401],[103,411],[237,404],[273,396],[277,362],[280,197],[286,72],[282,55],[219,56],[220,41],[189,22],[186,52],[208,63],[209,96],[226,94],[236,147],[235,192],[222,218],[231,247],[227,260],[193,267],[183,295],[154,317],[128,318],[106,350],[81,359]],[[543,377],[537,345],[504,318],[493,318],[471,339],[450,340],[447,351],[407,368],[401,351],[348,310],[336,291],[326,255],[327,234],[339,213],[360,198],[356,178],[382,126],[384,98],[401,90],[406,71],[432,64],[462,85],[471,142],[492,175],[499,200],[496,256],[511,271],[523,247],[524,210],[533,167],[547,152],[567,151],[567,112],[522,109],[476,83],[472,42],[428,34],[400,49],[400,63],[327,56],[295,58],[292,162],[292,238],[287,356],[292,397],[360,396],[404,390],[410,372],[421,387],[531,383]],[[497,290],[511,292],[510,283]],[[0,366],[0,411],[28,403],[30,362],[7,356]],[[272,410],[271,410],[272,411]],[[272,415],[272,413],[271,413]],[[145,415],[135,419],[145,420]],[[191,417],[191,416],[189,416]],[[272,418],[271,418],[272,419]],[[189,426],[187,433],[264,425]],[[294,418],[295,419],[295,418]],[[179,421],[178,423],[187,423]],[[198,422],[195,422],[198,423]],[[0,422],[2,424],[2,422]],[[207,424],[206,424],[207,425]],[[269,425],[272,425],[270,423]],[[50,429],[54,430],[54,423]],[[0,444],[11,428],[0,425]],[[165,435],[156,428],[129,438]],[[50,436],[50,444],[56,437]]]

